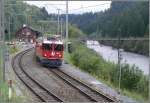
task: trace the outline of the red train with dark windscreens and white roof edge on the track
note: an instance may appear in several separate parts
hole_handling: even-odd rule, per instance
[[[41,64],[52,67],[62,65],[64,44],[56,38],[38,38],[35,45],[35,55]]]

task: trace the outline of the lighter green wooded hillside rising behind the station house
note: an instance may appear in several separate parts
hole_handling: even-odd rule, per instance
[[[7,0],[5,4],[5,25],[7,32],[10,28],[11,38],[24,24],[41,31],[43,34],[57,33],[57,14],[48,14],[45,7],[38,8],[16,0]],[[64,22],[62,29],[65,36]],[[75,33],[81,34],[81,37],[83,37],[83,33],[76,26],[69,25],[69,32],[69,37],[77,37]],[[6,39],[8,39],[8,34],[5,35]]]

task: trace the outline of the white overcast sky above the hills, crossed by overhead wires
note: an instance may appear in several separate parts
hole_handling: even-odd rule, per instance
[[[45,7],[48,13],[65,13],[66,1],[26,1],[28,4]],[[69,13],[82,14],[84,12],[104,11],[110,7],[111,1],[69,1]],[[90,6],[90,7],[89,7]],[[85,8],[86,7],[86,8]],[[88,8],[87,8],[88,7]],[[82,9],[81,9],[82,8]]]

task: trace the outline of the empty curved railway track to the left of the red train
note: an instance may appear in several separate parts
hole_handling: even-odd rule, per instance
[[[63,100],[52,94],[49,90],[43,87],[38,81],[34,80],[23,70],[21,65],[21,58],[30,50],[31,49],[21,52],[13,58],[12,66],[15,73],[20,78],[20,80],[40,99],[40,102],[62,102]]]

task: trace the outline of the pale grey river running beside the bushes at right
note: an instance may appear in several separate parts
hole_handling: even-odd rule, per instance
[[[118,51],[111,46],[105,46],[98,41],[87,41],[87,47],[98,52],[105,60],[114,63],[118,62]],[[149,72],[149,58],[140,54],[121,51],[122,60],[121,63],[127,63],[129,65],[135,65],[141,69],[144,74]]]

